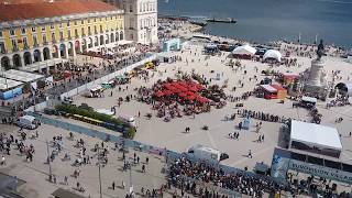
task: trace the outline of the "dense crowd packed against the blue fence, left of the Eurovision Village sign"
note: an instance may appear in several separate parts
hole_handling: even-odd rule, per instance
[[[172,185],[189,194],[200,196],[204,196],[207,190],[201,186],[197,187],[196,183],[190,182],[191,179],[252,197],[262,197],[264,193],[275,194],[285,189],[284,186],[266,177],[251,176],[242,172],[224,173],[221,168],[217,169],[206,163],[193,162],[185,156],[172,162],[168,175]],[[208,196],[206,197],[210,197],[209,194],[211,191],[208,190]]]

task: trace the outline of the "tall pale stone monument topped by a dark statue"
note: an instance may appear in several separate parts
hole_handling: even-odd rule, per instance
[[[311,67],[308,70],[308,77],[304,84],[304,92],[317,98],[326,98],[327,96],[327,79],[326,72],[323,69],[324,62],[322,59],[324,46],[322,40],[318,45],[317,58],[311,61]]]

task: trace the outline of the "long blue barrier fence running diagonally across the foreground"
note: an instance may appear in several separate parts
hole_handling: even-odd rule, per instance
[[[86,134],[92,138],[98,138],[101,140],[107,140],[109,139],[110,142],[118,142],[119,144],[123,143],[123,145],[125,147],[131,147],[131,148],[138,148],[141,152],[145,152],[145,153],[151,153],[151,154],[156,154],[156,155],[164,155],[165,156],[165,148],[162,147],[157,147],[157,146],[153,146],[153,145],[148,145],[148,144],[143,144],[141,142],[138,141],[133,141],[133,140],[128,140],[128,139],[123,139],[121,136],[118,135],[113,135],[113,134],[108,134],[101,131],[97,131],[94,129],[89,129],[89,128],[85,128],[81,125],[76,125],[73,123],[68,123],[65,121],[61,121],[61,120],[54,120],[47,117],[44,117],[42,114],[38,113],[34,113],[34,112],[28,112],[28,114],[31,114],[33,117],[35,117],[37,120],[40,120],[42,123],[48,124],[48,125],[53,125],[56,128],[61,128],[64,130],[68,130],[72,132],[76,132],[76,133],[80,133],[80,134]],[[190,155],[185,155],[185,154],[180,154],[174,151],[166,151],[166,155],[169,160],[177,160],[180,156],[185,156],[187,158],[189,158],[193,162],[204,162],[199,158],[193,157]],[[221,164],[213,164],[213,167],[216,168],[221,168],[226,174],[233,174],[233,173],[243,173],[248,176],[251,177],[255,177],[255,178],[262,178],[262,179],[266,179],[266,180],[272,180],[271,177],[267,176],[263,176],[263,175],[257,175],[254,174],[252,172],[244,172],[242,169],[235,168],[235,167],[231,167],[231,166],[227,166],[227,165],[221,165]],[[223,194],[233,196],[233,197],[241,197],[241,194],[233,191],[233,190],[229,190],[229,189],[224,189],[221,188],[221,190],[219,189],[219,191],[222,191]]]

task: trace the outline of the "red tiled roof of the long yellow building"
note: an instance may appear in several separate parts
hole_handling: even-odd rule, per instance
[[[23,2],[23,0],[16,0],[15,2]],[[79,13],[106,12],[113,10],[117,10],[117,8],[98,0],[61,0],[55,2],[26,0],[25,3],[0,3],[0,22],[53,18]]]

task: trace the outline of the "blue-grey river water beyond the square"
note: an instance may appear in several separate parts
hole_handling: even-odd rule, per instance
[[[352,47],[352,0],[158,0],[161,14],[234,18],[206,32],[251,42],[277,40]]]

